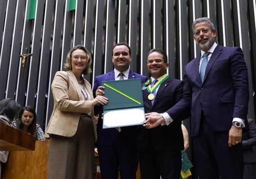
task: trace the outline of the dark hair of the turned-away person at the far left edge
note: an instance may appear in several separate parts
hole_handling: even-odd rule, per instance
[[[20,105],[14,99],[6,98],[0,101],[0,115],[4,115],[10,121],[13,121],[16,112],[19,111]]]

